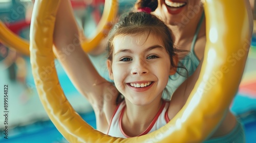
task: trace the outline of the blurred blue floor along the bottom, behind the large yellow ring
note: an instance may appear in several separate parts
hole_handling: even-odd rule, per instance
[[[94,112],[80,114],[93,128],[96,128]],[[246,142],[254,143],[256,140],[256,111],[250,112],[247,116],[240,116],[245,127]],[[1,131],[3,135],[3,131]],[[18,126],[9,130],[8,139],[0,138],[0,142],[21,143],[21,142],[68,142],[55,128],[51,121],[39,121],[27,126]]]

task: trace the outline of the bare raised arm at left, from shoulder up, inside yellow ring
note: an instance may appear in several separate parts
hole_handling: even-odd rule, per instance
[[[54,53],[72,83],[91,103],[97,118],[97,129],[104,132],[116,107],[118,92],[98,74],[88,55],[82,50],[69,0],[60,2],[54,29],[54,45]]]

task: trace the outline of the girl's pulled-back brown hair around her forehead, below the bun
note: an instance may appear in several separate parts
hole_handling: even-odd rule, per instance
[[[163,41],[165,50],[170,57],[170,63],[173,67],[177,67],[173,59],[178,50],[174,47],[172,32],[159,18],[146,12],[130,12],[129,14],[121,17],[114,25],[108,35],[108,59],[112,61],[113,41],[115,37],[124,35],[140,35],[145,33],[148,35],[154,34]]]

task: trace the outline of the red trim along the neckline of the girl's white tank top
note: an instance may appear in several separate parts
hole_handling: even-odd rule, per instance
[[[150,130],[154,127],[155,123],[157,122],[157,119],[158,119],[159,115],[160,115],[161,112],[163,111],[163,108],[164,108],[164,106],[165,106],[165,103],[166,103],[166,101],[163,100],[163,104],[162,104],[162,106],[160,107],[160,109],[158,110],[158,112],[157,112],[156,116],[154,117],[153,121],[151,122],[150,126],[148,126],[147,129],[146,129],[144,132],[142,132],[140,135],[137,135],[137,136],[145,135],[145,134],[147,134],[148,132],[150,132]],[[121,130],[122,134],[123,134],[125,137],[129,138],[130,136],[129,136],[129,135],[126,135],[126,134],[124,133],[124,131],[123,131],[123,128],[122,128],[122,117],[123,117],[123,113],[124,113],[125,107],[126,107],[126,106],[124,106],[123,109],[122,109],[122,111],[121,111],[121,115],[120,115],[120,118],[119,118],[119,127],[120,127],[120,130]]]

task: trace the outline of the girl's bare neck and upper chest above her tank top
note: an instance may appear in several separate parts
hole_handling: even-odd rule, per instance
[[[122,116],[122,129],[126,135],[137,136],[144,132],[150,126],[162,103],[160,99],[148,105],[137,106],[127,101]]]

